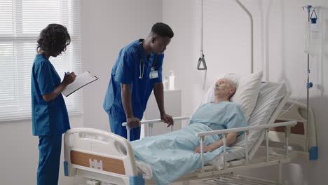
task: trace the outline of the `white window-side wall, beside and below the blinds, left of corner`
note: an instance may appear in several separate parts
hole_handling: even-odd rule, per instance
[[[83,69],[100,80],[84,88],[84,115],[70,118],[71,128],[109,130],[102,101],[109,82],[111,66],[119,50],[136,39],[145,38],[155,22],[162,20],[160,0],[83,0]],[[36,184],[39,161],[38,137],[32,136],[31,121],[0,123],[0,184]],[[63,155],[58,184],[78,184],[82,179],[64,177]]]

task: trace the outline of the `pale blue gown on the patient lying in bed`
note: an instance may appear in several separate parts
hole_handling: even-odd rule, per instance
[[[212,130],[240,128],[247,126],[247,120],[240,106],[234,102],[203,104],[191,118],[190,124],[203,123]],[[241,135],[242,132],[238,132]],[[222,137],[219,135],[219,137]]]

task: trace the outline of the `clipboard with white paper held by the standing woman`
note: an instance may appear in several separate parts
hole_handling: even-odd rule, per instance
[[[99,79],[97,76],[90,74],[89,71],[85,71],[82,74],[78,74],[75,78],[75,81],[73,83],[70,83],[69,85],[62,90],[62,94],[65,97],[68,97],[72,93],[74,93],[76,90],[79,90],[80,88],[83,88],[84,86],[88,85],[89,83],[93,83],[94,81],[97,81]]]

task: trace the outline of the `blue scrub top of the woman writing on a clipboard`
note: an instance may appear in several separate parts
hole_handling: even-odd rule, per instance
[[[42,97],[52,93],[60,82],[53,64],[43,55],[36,55],[31,80],[33,135],[59,135],[70,129],[62,94],[49,102]]]

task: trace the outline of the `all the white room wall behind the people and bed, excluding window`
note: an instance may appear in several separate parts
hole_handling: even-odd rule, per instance
[[[328,7],[325,0],[245,0],[254,15],[255,25],[255,71],[264,69],[264,80],[285,81],[295,98],[303,88],[306,73],[306,55],[303,53],[304,24],[306,13],[301,6],[306,4]],[[216,74],[250,70],[249,20],[234,1],[204,0],[205,59],[207,87]],[[145,38],[155,22],[168,23],[175,37],[165,52],[163,73],[174,69],[177,88],[182,89],[184,114],[191,114],[203,94],[203,71],[196,70],[200,48],[200,1],[190,0],[82,0],[82,58],[83,69],[97,75],[100,80],[83,90],[83,118],[71,118],[71,127],[84,126],[109,130],[107,114],[102,101],[109,82],[111,67],[118,51],[135,39]],[[328,27],[328,13],[320,11],[320,22]],[[311,106],[315,111],[319,160],[284,166],[289,184],[322,184],[328,165],[328,149],[324,137],[328,125],[325,106],[328,104],[328,36],[325,29],[325,53],[311,61]],[[302,79],[302,80],[300,80]],[[301,93],[304,102],[305,93]],[[39,159],[38,139],[32,136],[31,121],[0,124],[1,139],[1,184],[36,184],[36,168]],[[260,177],[275,179],[269,175],[276,169],[250,171]],[[63,177],[60,184],[73,184],[74,179]],[[74,181],[75,184],[77,181]]]

